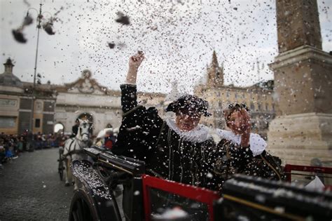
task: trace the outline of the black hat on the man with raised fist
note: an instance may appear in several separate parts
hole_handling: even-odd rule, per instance
[[[207,100],[202,100],[195,95],[183,95],[178,100],[170,103],[166,108],[166,112],[177,112],[185,109],[189,113],[211,116],[212,114],[207,112],[207,108],[209,108]]]

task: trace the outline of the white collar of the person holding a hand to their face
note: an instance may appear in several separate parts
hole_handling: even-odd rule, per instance
[[[216,129],[216,134],[219,135],[219,138],[229,140],[236,145],[240,145],[241,143],[241,136],[235,135],[235,133],[230,130]],[[263,153],[266,146],[267,144],[265,140],[263,140],[260,135],[257,133],[250,133],[250,150],[254,156]]]

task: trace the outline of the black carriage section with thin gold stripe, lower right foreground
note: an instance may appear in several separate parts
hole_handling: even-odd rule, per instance
[[[331,192],[234,175],[214,205],[216,220],[332,220]]]

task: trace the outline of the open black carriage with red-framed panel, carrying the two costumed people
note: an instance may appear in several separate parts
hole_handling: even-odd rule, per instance
[[[69,220],[331,220],[332,194],[289,183],[235,175],[217,193],[144,174],[144,162],[101,147],[84,149],[91,161],[73,161],[81,182]],[[287,166],[289,178],[292,166]],[[293,167],[295,170],[301,168]],[[305,167],[332,173],[331,168]],[[320,174],[321,175],[321,174]],[[117,194],[123,187],[123,194]]]

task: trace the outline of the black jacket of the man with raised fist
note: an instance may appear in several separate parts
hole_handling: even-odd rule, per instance
[[[158,116],[155,107],[137,105],[136,86],[121,88],[123,120],[114,154],[146,162],[146,173],[167,180],[206,187],[207,154],[214,141],[189,142],[181,138]]]

